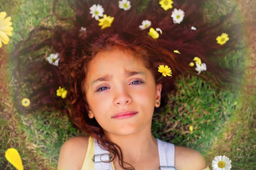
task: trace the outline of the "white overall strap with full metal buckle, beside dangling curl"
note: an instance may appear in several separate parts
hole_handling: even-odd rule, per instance
[[[102,161],[110,161],[111,156],[108,150],[102,149],[96,139],[94,138],[94,170],[113,170],[110,163],[104,163]],[[104,154],[104,155],[103,155]]]

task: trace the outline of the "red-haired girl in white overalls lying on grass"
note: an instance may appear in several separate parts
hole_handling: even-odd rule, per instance
[[[213,59],[239,49],[234,28],[240,25],[220,27],[235,8],[212,24],[202,22],[205,0],[150,0],[142,14],[136,9],[142,2],[135,0],[68,2],[76,20],[58,17],[57,1],[53,13],[72,21],[72,28],[37,28],[25,42],[36,31],[53,35],[23,50],[20,43],[13,53],[15,78],[34,90],[32,109],[65,112],[89,135],[63,144],[57,170],[209,170],[195,149],[155,138],[151,122],[167,104],[177,76],[196,75],[223,88],[232,81],[232,70]],[[45,46],[56,53],[50,63],[19,57]],[[31,81],[24,73],[37,76]]]

